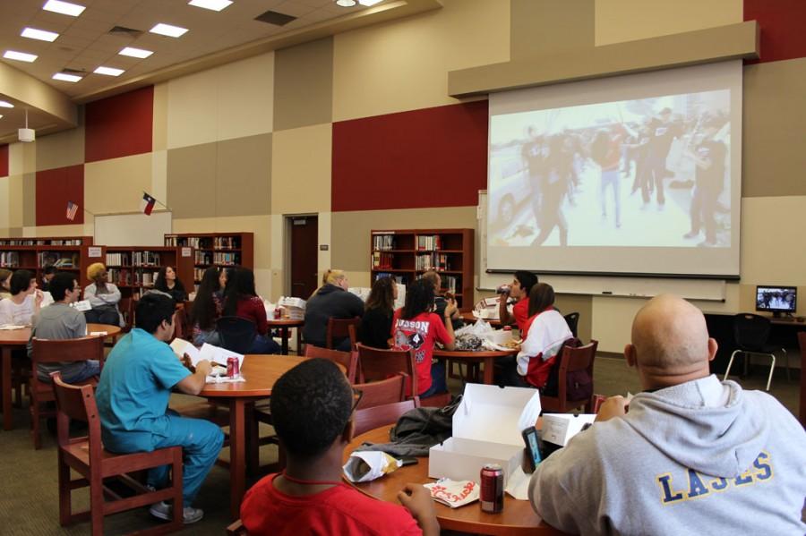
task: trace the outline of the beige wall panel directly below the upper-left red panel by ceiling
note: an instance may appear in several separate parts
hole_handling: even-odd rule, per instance
[[[84,164],[84,204],[93,214],[138,211],[150,186],[150,153]]]

